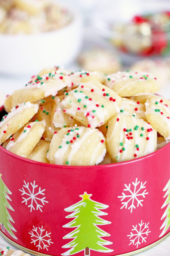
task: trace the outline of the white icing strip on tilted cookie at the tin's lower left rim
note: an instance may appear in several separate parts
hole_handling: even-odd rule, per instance
[[[7,150],[10,150],[11,147],[13,147],[15,144],[19,143],[20,141],[24,140],[28,133],[30,132],[30,130],[32,129],[32,127],[36,124],[43,124],[44,128],[45,128],[45,125],[46,125],[46,121],[45,120],[42,120],[42,121],[35,121],[35,122],[32,122],[32,123],[29,123],[29,125],[31,126],[30,128],[27,126],[24,127],[22,133],[19,135],[19,137],[17,138],[17,140],[10,140],[6,146],[6,149]],[[44,131],[44,128],[41,128],[39,129],[39,132],[40,134],[43,133]]]

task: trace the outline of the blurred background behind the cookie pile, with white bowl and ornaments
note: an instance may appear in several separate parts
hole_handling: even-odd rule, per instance
[[[142,70],[170,95],[169,0],[0,0],[0,100],[43,68]]]

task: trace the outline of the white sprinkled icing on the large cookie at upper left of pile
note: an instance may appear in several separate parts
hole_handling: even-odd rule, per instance
[[[47,97],[49,95],[55,96],[59,90],[71,84],[71,79],[69,76],[55,74],[54,71],[49,74],[44,74],[41,76],[41,78],[42,79],[38,80],[37,82],[28,83],[27,86],[23,88],[23,90],[28,88],[40,88],[44,91],[45,97]]]

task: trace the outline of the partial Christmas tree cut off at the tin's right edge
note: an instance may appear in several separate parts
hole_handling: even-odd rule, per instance
[[[167,199],[165,200],[165,202],[164,202],[163,206],[161,207],[161,209],[163,207],[165,207],[166,205],[167,205],[167,208],[166,208],[166,210],[163,213],[163,216],[161,218],[161,220],[163,218],[165,218],[165,220],[164,220],[164,222],[163,222],[163,224],[162,224],[162,226],[160,228],[160,229],[163,228],[163,231],[162,231],[162,233],[160,234],[159,237],[163,236],[163,234],[168,230],[168,228],[170,226],[170,180],[168,181],[167,185],[163,189],[163,191],[166,191],[166,190],[167,190],[167,192],[165,193],[164,197],[167,196]]]

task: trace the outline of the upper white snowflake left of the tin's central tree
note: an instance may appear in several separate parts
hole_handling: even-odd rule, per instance
[[[41,195],[45,195],[43,193],[45,191],[45,189],[41,190],[41,187],[39,187],[39,189],[37,191],[36,188],[38,187],[38,185],[35,185],[35,181],[33,182],[33,184],[32,184],[32,182],[30,182],[30,184],[31,184],[30,187],[31,188],[29,187],[29,182],[26,183],[24,181],[24,183],[25,183],[25,185],[23,185],[22,189],[19,189],[19,191],[21,191],[22,195],[26,196],[27,198],[22,197],[22,199],[24,199],[22,201],[22,203],[25,202],[25,204],[27,205],[27,203],[30,202],[30,204],[28,205],[28,207],[30,207],[30,212],[32,212],[32,209],[35,210],[35,207],[36,207],[36,210],[39,209],[42,212],[41,208],[43,207],[43,205],[45,203],[48,203],[48,201],[45,200],[46,197],[41,198]]]

